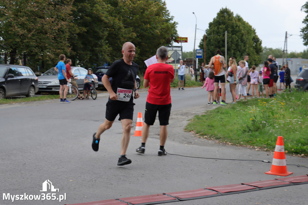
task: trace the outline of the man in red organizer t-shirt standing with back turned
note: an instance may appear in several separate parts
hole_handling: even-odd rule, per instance
[[[148,98],[145,105],[144,125],[141,131],[141,146],[136,152],[144,154],[145,142],[148,139],[149,128],[154,124],[158,111],[160,123],[160,148],[158,156],[167,155],[164,145],[167,140],[167,125],[171,111],[170,83],[174,81],[174,69],[166,64],[168,49],[161,46],[156,51],[157,62],[148,66],[144,74],[143,86],[148,87]]]

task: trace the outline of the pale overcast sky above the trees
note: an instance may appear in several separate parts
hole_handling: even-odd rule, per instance
[[[182,43],[183,51],[192,51],[194,47],[195,26],[197,17],[197,28],[206,30],[209,22],[216,18],[221,8],[227,7],[233,14],[239,14],[244,21],[248,22],[262,40],[262,46],[268,48],[284,47],[286,31],[288,36],[288,52],[301,52],[307,49],[303,45],[302,38],[298,36],[304,27],[302,23],[306,13],[301,11],[305,0],[165,0],[167,9],[178,22],[177,31],[180,37],[188,37],[187,43]],[[195,15],[193,14],[195,12]],[[201,39],[204,31],[196,32],[195,48]],[[181,43],[174,43],[180,46]]]

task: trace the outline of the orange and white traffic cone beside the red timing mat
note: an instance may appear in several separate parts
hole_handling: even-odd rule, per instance
[[[272,168],[270,171],[265,172],[268,175],[288,176],[293,172],[287,171],[285,147],[283,145],[283,137],[278,136],[275,147]]]

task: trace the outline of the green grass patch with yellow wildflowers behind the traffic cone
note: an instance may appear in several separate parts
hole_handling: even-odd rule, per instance
[[[201,137],[273,151],[277,136],[285,151],[308,156],[308,92],[284,92],[252,98],[196,115],[185,130]]]

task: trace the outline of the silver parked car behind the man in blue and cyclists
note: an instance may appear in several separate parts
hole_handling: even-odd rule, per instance
[[[88,71],[82,67],[75,67],[71,66],[71,71],[74,75],[77,75],[77,85],[78,90],[83,90],[83,79],[88,73]],[[98,87],[98,79],[95,74],[93,74],[96,83],[95,88]],[[54,68],[51,68],[47,70],[45,73],[43,73],[39,78],[39,92],[59,92],[60,84],[58,80],[58,72],[55,71]]]

